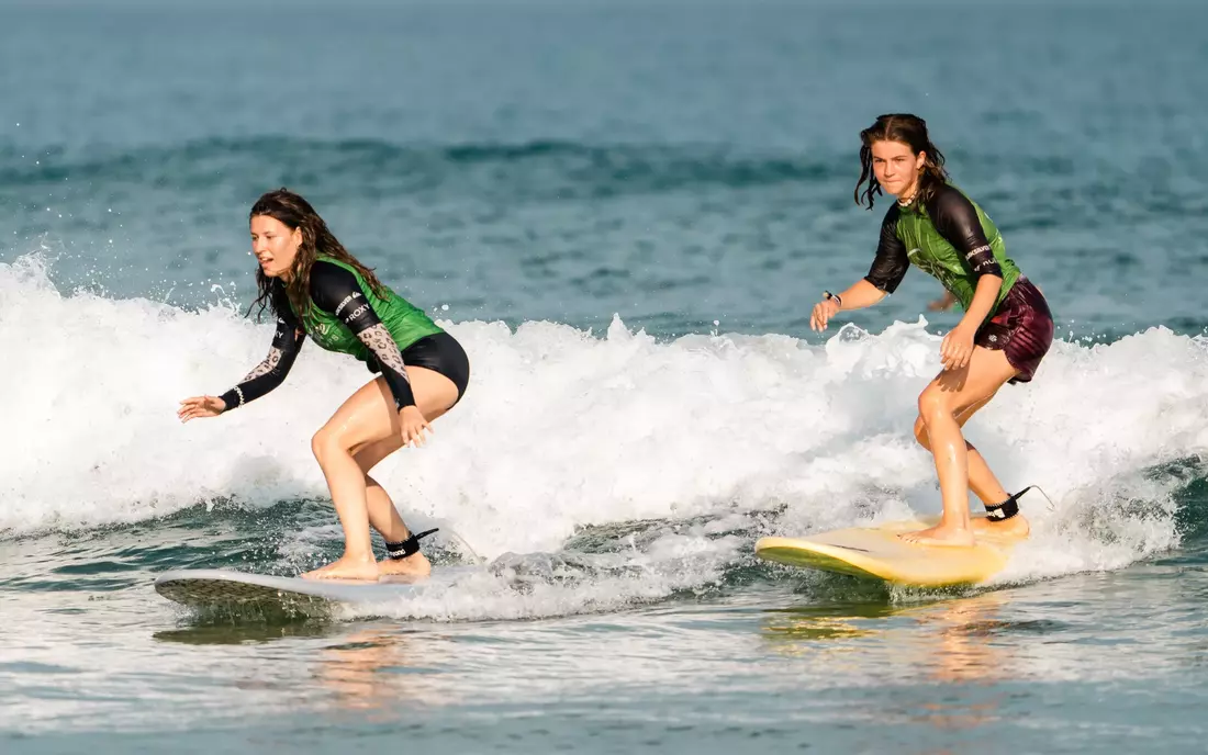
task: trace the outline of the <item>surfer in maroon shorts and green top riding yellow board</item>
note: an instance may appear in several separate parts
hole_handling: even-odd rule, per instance
[[[948,182],[943,155],[922,118],[883,115],[860,133],[860,141],[856,204],[866,201],[872,209],[882,191],[898,201],[881,223],[869,274],[837,296],[826,292],[814,306],[811,327],[825,330],[840,312],[876,304],[894,292],[912,262],[939,279],[964,315],[940,345],[943,368],[918,397],[914,437],[935,457],[943,516],[936,527],[901,538],[972,545],[970,489],[986,506],[985,527],[1026,534],[1027,521],[1017,516],[1022,492],[1007,494],[960,429],[1004,383],[1032,379],[1052,343],[1049,304],[1006,256],[989,216]]]

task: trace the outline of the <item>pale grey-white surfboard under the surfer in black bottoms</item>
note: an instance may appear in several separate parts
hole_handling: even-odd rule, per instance
[[[157,576],[155,591],[174,603],[192,608],[274,605],[307,611],[338,603],[414,598],[432,588],[452,585],[469,570],[469,567],[445,567],[425,577],[387,576],[371,582],[303,580],[233,569],[178,569]]]

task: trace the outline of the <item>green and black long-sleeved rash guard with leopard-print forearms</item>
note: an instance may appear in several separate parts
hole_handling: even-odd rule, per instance
[[[285,381],[307,335],[320,347],[352,354],[381,370],[397,408],[414,406],[416,396],[402,362],[402,349],[424,336],[441,332],[426,315],[385,290],[378,296],[350,266],[319,259],[310,268],[312,309],[298,318],[280,284],[273,291],[277,333],[265,361],[222,394],[227,410],[243,406]],[[387,323],[378,316],[385,314]],[[388,327],[391,325],[393,327]]]

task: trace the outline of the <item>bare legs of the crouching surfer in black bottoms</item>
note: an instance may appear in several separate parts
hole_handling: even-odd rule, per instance
[[[423,367],[407,367],[416,402],[431,422],[457,400],[457,387],[445,376]],[[452,396],[449,396],[452,391]],[[309,579],[373,580],[381,569],[373,558],[370,523],[391,539],[406,525],[389,495],[365,474],[372,464],[401,447],[399,414],[383,378],[361,387],[312,440],[312,449],[331,490],[331,500],[344,528],[344,554],[336,562],[303,574]],[[358,459],[356,449],[365,454]],[[368,464],[372,461],[372,464]],[[362,467],[362,464],[368,466]],[[372,482],[372,484],[371,484]],[[371,489],[373,493],[371,494]],[[389,509],[389,511],[387,511]],[[396,519],[396,521],[395,521]],[[406,534],[401,539],[406,539]],[[411,561],[411,559],[407,559]],[[417,561],[417,565],[426,563]],[[430,567],[429,567],[430,569]]]

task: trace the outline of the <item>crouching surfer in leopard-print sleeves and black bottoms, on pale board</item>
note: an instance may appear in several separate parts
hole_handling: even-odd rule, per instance
[[[329,352],[365,361],[381,376],[349,396],[310,439],[344,528],[344,554],[302,576],[428,574],[419,539],[429,533],[407,529],[370,470],[402,446],[423,446],[430,423],[460,400],[470,379],[465,352],[353,257],[298,194],[266,193],[249,221],[260,295],[248,312],[260,304],[260,312],[267,307],[277,316],[272,348],[238,385],[221,396],[185,399],[178,416],[181,422],[217,417],[263,396],[285,379],[307,336]],[[382,563],[374,559],[370,527],[385,540]]]

